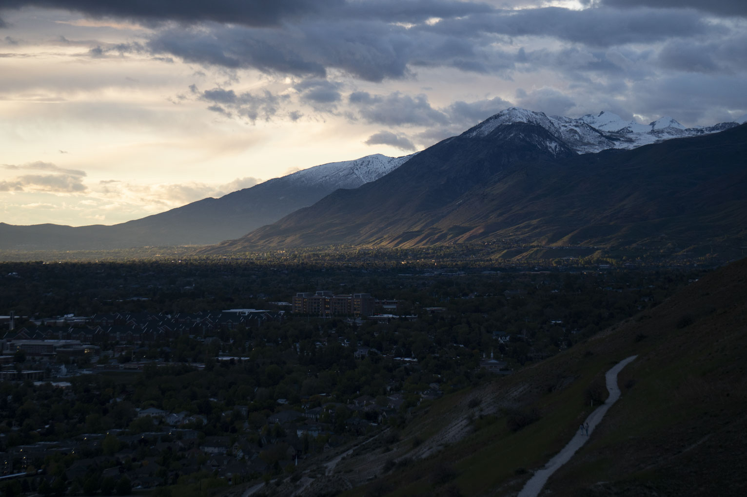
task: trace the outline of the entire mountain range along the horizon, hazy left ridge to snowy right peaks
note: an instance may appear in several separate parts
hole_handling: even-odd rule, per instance
[[[740,203],[740,195],[716,192],[721,182],[726,192],[742,185],[743,151],[733,150],[740,138],[719,131],[744,128],[739,125],[745,121],[747,116],[685,128],[669,117],[642,125],[606,111],[571,119],[511,107],[418,154],[323,164],[118,225],[0,222],[0,248],[228,240],[203,250],[221,253],[496,238],[559,245],[712,244],[742,233],[735,222],[746,210],[732,210],[737,219],[722,215],[726,203]],[[718,137],[713,144],[711,137]],[[709,220],[714,216],[717,222]]]

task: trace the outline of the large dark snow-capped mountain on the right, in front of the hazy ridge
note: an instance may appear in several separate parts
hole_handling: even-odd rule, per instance
[[[204,252],[495,239],[684,250],[745,238],[747,125],[714,133],[660,119],[642,131],[618,128],[605,113],[570,121],[504,110],[376,181]],[[696,136],[666,140],[681,132]],[[664,141],[577,154],[604,140],[623,148]]]

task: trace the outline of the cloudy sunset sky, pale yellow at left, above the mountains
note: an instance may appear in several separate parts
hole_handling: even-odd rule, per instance
[[[116,224],[511,106],[737,119],[747,1],[0,0],[0,222]]]

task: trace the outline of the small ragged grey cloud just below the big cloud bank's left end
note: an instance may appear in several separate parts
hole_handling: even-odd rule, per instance
[[[285,96],[273,95],[268,91],[255,95],[249,92],[235,93],[234,90],[213,88],[200,92],[195,85],[190,85],[190,91],[200,100],[208,101],[208,110],[231,117],[237,116],[255,122],[257,119],[269,120],[278,113],[279,106]]]

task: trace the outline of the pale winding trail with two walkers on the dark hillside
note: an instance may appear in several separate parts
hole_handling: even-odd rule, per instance
[[[609,410],[612,404],[614,404],[617,399],[620,398],[620,389],[617,386],[617,375],[625,366],[627,366],[628,363],[630,363],[636,357],[638,356],[632,355],[630,357],[627,357],[627,359],[621,360],[604,375],[604,379],[607,382],[607,390],[609,390],[610,396],[607,398],[607,401],[605,401],[604,404],[597,407],[594,412],[589,414],[589,417],[586,418],[586,423],[589,423],[589,434],[592,434],[594,428],[596,428],[596,426],[602,420],[604,414],[607,413],[607,410]],[[550,475],[556,472],[557,469],[560,468],[560,466],[567,463],[568,460],[571,459],[573,454],[575,454],[576,451],[581,446],[583,446],[584,443],[586,443],[586,440],[589,440],[589,437],[586,436],[586,434],[581,434],[580,431],[577,431],[574,437],[571,438],[571,441],[568,442],[568,445],[563,447],[562,450],[555,455],[555,457],[549,460],[548,463],[545,464],[545,467],[543,467],[542,469],[538,469],[534,473],[534,476],[530,478],[529,481],[527,481],[527,484],[525,484],[524,488],[521,489],[521,492],[518,493],[518,497],[538,496],[539,492],[542,490],[542,487],[545,487],[545,484],[548,482],[548,478],[550,478]]]

